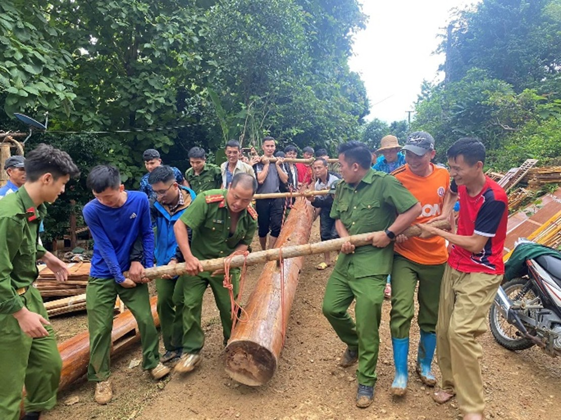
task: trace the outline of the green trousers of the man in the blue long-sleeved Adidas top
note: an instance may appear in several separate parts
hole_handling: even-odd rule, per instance
[[[137,284],[127,289],[113,279],[90,277],[86,286],[86,309],[88,310],[88,331],[90,333],[89,381],[107,381],[111,352],[111,330],[113,329],[113,308],[117,295],[131,310],[138,324],[142,343],[142,368],[151,369],[158,365],[158,331],[150,310],[148,284]]]

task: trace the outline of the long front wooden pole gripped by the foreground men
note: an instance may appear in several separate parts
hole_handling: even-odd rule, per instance
[[[301,200],[301,202],[305,203],[304,200]],[[297,206],[298,204],[296,204],[295,208],[297,208]],[[294,210],[291,211],[291,214],[293,213],[293,211]],[[309,228],[311,228],[311,224],[312,223],[310,221]],[[446,220],[435,222],[433,225],[440,229],[448,229],[448,230],[450,229],[450,224]],[[343,243],[347,241],[351,242],[354,246],[370,245],[371,244],[370,237],[372,234],[373,232],[361,233],[360,235],[352,235],[346,238],[331,239],[330,241],[323,241],[323,242],[316,242],[316,243],[301,243],[294,246],[283,246],[284,243],[280,243],[277,241],[279,243],[279,246],[282,247],[282,249],[273,248],[271,250],[266,250],[266,251],[250,252],[249,255],[247,255],[247,257],[243,255],[236,255],[230,260],[230,266],[241,267],[243,266],[244,261],[248,266],[263,264],[264,262],[267,261],[278,261],[281,252],[284,259],[289,259],[295,257],[302,257],[306,255],[320,254],[328,251],[339,251],[341,250],[341,246],[343,245]],[[413,236],[419,236],[421,234],[421,229],[413,225],[408,227],[406,230],[404,230],[403,234],[410,238]],[[288,243],[300,243],[300,242],[292,241]],[[203,266],[203,271],[214,271],[214,270],[223,269],[224,259],[215,258],[211,260],[203,260],[201,261],[201,265]],[[159,267],[146,269],[144,271],[144,276],[148,279],[159,279],[163,275],[177,276],[177,275],[185,274],[186,272],[187,271],[185,270],[185,263],[181,262],[179,264],[162,265]],[[124,273],[124,274],[125,277],[128,275],[128,273]]]

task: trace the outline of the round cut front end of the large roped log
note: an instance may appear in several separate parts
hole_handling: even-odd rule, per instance
[[[277,359],[269,349],[246,340],[233,341],[226,347],[226,373],[237,382],[260,386],[277,370]]]

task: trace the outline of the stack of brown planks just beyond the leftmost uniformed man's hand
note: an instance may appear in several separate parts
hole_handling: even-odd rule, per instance
[[[54,273],[46,266],[39,267],[39,278],[35,281],[35,287],[43,297],[51,296],[76,296],[86,292],[88,277],[90,275],[89,262],[77,262],[67,264],[68,280],[57,281]]]

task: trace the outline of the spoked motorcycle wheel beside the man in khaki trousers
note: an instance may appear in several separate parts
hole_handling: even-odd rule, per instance
[[[513,299],[520,293],[528,281],[530,280],[523,278],[507,281],[507,283],[503,284],[504,293],[506,293],[509,298]],[[532,289],[528,290],[523,296],[525,299],[533,299],[535,297],[536,294]],[[534,341],[520,336],[518,329],[504,319],[495,302],[493,302],[489,310],[489,326],[491,327],[491,333],[496,342],[505,349],[526,350],[535,345]]]

